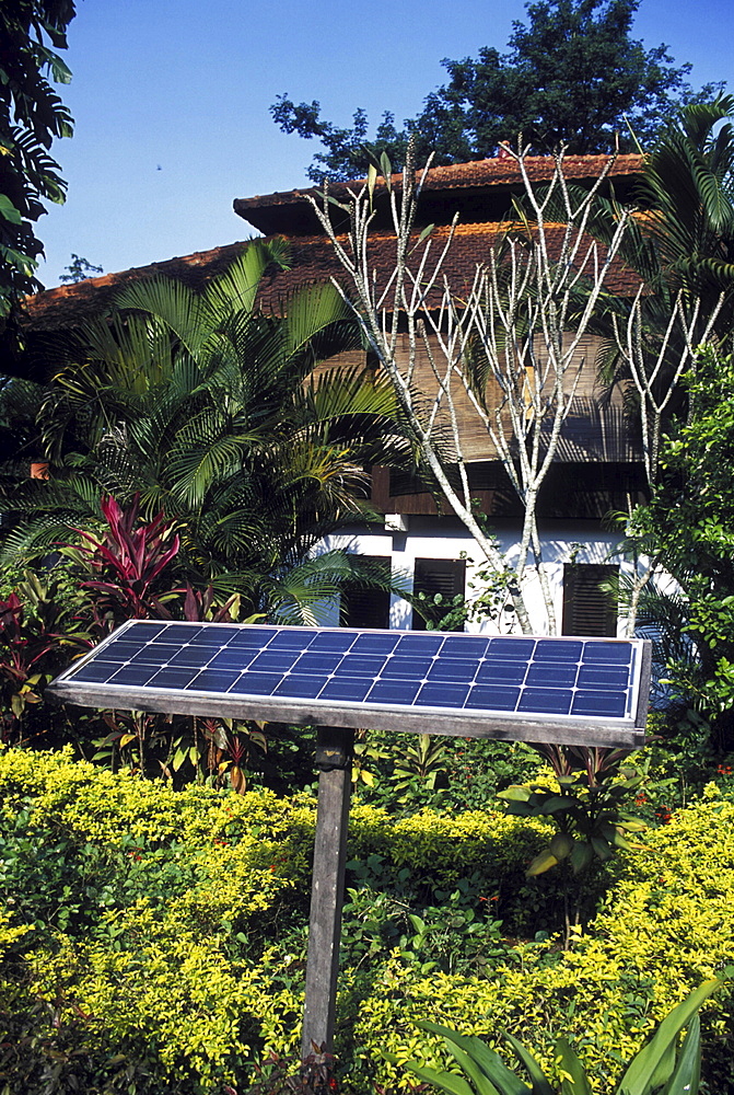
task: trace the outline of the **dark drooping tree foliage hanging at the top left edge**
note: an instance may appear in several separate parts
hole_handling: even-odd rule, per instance
[[[74,14],[74,0],[0,3],[0,324],[14,300],[39,288],[34,226],[44,200],[65,199],[48,150],[55,137],[71,136],[72,118],[50,81],[71,79],[55,50],[66,48]]]

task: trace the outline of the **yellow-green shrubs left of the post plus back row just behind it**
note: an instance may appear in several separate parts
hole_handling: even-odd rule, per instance
[[[30,1095],[53,1061],[50,1091],[89,1086],[92,1061],[110,1091],[213,1093],[260,1052],[298,1049],[313,797],[174,792],[67,749],[0,753],[0,799],[4,1014],[35,1054],[7,1068]],[[381,857],[426,900],[473,872],[522,872],[543,840],[479,812],[395,820],[358,802],[352,820],[356,864]]]

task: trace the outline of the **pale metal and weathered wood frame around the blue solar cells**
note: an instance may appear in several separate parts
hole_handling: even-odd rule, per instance
[[[491,737],[504,740],[554,741],[567,745],[610,746],[637,748],[644,742],[644,724],[650,692],[651,643],[646,639],[592,638],[587,636],[562,636],[559,641],[574,641],[583,644],[624,643],[633,650],[633,711],[625,718],[601,715],[555,715],[545,712],[519,713],[466,710],[462,707],[408,706],[397,703],[375,703],[368,701],[333,701],[273,695],[226,695],[214,691],[184,691],[155,689],[139,684],[95,683],[75,680],[77,673],[92,660],[104,660],[101,655],[126,631],[141,623],[128,621],[118,627],[103,643],[83,658],[74,662],[66,672],[53,681],[47,691],[63,703],[77,703],[94,707],[132,708],[136,711],[162,712],[164,714],[186,714],[221,716],[223,718],[252,718],[270,722],[310,726],[369,727],[373,729],[398,730],[413,734],[439,734],[455,737]],[[263,625],[252,624],[190,624],[184,621],[148,621],[165,627],[197,626],[215,629],[249,630],[258,632]],[[405,637],[413,632],[395,632],[335,627],[282,627],[277,631],[353,633],[354,635],[396,635]],[[263,630],[265,630],[263,627]],[[271,630],[268,626],[268,631]],[[422,633],[421,633],[422,634]],[[462,639],[499,636],[470,635],[467,633],[431,632],[433,636]],[[501,636],[503,638],[548,641],[548,636]],[[552,639],[551,639],[552,641]]]

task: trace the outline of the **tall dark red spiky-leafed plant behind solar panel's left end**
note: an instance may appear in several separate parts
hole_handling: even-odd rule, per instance
[[[86,541],[78,549],[98,578],[82,583],[98,597],[98,616],[112,615],[113,622],[147,616],[170,618],[163,600],[183,590],[172,589],[156,596],[155,580],[178,554],[180,544],[173,533],[173,522],[161,510],[152,521],[140,521],[140,496],[135,495],[125,509],[112,497],[103,498],[102,512],[107,529],[97,539],[83,529],[75,531]]]

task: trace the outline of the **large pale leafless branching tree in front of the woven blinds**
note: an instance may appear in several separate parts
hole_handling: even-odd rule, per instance
[[[376,169],[361,188],[347,192],[345,201],[336,201],[326,187],[312,203],[347,275],[335,284],[395,385],[424,464],[483,558],[506,583],[523,632],[554,634],[557,621],[538,531],[538,495],[586,365],[583,339],[629,214],[620,212],[606,244],[589,234],[594,203],[614,158],[579,196],[567,187],[562,151],[543,194],[529,177],[527,148],[519,145],[511,154],[529,216],[508,226],[462,293],[446,274],[457,218],[447,231],[416,229],[430,163],[417,173],[409,154],[401,178],[394,178],[383,160],[380,189],[386,192],[395,235],[386,277],[375,273],[373,255]],[[562,218],[547,219],[559,204]],[[336,206],[349,212],[345,235],[335,227]],[[485,451],[497,454],[522,503],[522,533],[512,555],[500,551],[473,503],[466,448],[477,426],[486,438]],[[532,619],[532,586],[541,591],[544,619]]]

